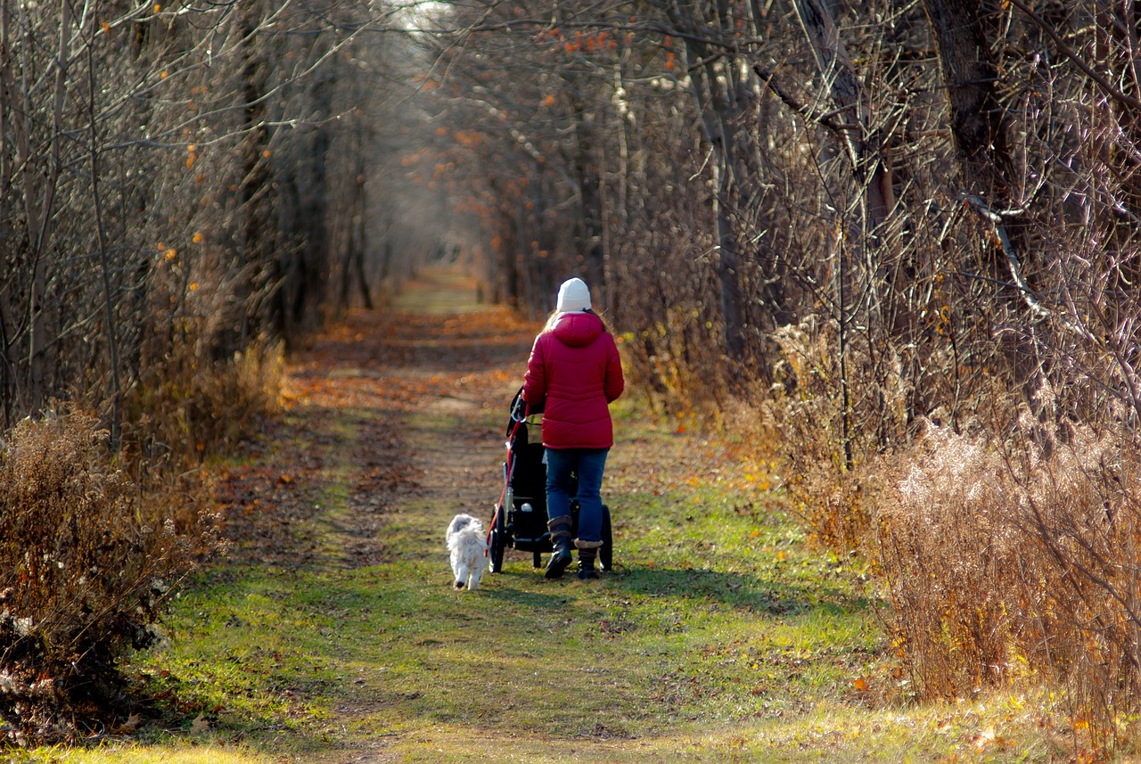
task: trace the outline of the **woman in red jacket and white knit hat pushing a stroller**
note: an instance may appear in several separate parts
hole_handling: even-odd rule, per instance
[[[602,545],[602,470],[614,445],[609,404],[622,395],[622,360],[614,338],[590,309],[581,278],[559,287],[547,326],[527,360],[523,399],[543,407],[543,461],[547,463],[547,527],[555,553],[548,578],[561,578],[570,564],[572,473],[578,487],[578,578],[598,578],[594,556]]]

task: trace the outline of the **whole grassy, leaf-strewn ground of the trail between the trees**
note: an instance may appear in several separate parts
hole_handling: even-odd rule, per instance
[[[1066,761],[1041,704],[916,706],[848,561],[776,464],[614,406],[615,569],[508,552],[455,591],[444,529],[487,518],[536,325],[436,274],[291,359],[284,416],[219,465],[230,546],[131,666],[155,713],[82,762]]]

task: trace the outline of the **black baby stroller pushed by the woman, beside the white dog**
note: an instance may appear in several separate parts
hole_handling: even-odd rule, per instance
[[[523,390],[511,401],[507,424],[507,461],[503,463],[503,496],[492,514],[492,572],[503,570],[507,547],[531,552],[534,564],[542,568],[542,554],[553,551],[547,529],[547,465],[543,464],[541,437],[542,408],[528,407]],[[570,535],[578,536],[578,502],[570,501]],[[610,536],[610,507],[602,505],[602,546],[598,550],[601,569],[610,570],[614,544]]]

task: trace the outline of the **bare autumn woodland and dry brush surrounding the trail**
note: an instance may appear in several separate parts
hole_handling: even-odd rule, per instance
[[[584,276],[663,411],[779,450],[915,697],[1058,681],[1076,734],[1135,737],[1139,24],[0,0],[8,724],[118,691],[210,544],[179,481],[272,407],[281,353],[453,259],[532,316]],[[76,656],[100,682],[43,684]]]

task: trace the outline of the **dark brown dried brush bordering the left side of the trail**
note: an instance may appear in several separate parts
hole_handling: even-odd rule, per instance
[[[175,304],[171,301],[171,304]],[[189,309],[188,309],[189,310]],[[0,733],[67,740],[129,704],[118,661],[148,645],[177,584],[218,551],[209,470],[275,411],[281,347],[226,352],[217,320],[164,315],[122,400],[25,420],[0,441]],[[116,448],[118,446],[118,448]]]

